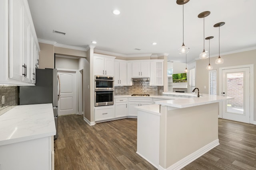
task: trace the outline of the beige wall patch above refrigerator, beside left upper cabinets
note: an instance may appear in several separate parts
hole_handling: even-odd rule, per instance
[[[54,45],[39,43],[39,68],[54,68]]]

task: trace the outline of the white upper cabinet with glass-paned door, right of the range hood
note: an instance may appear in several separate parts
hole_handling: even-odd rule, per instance
[[[151,61],[150,86],[164,86],[164,60]]]

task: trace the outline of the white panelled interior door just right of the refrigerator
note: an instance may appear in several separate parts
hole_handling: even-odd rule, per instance
[[[60,77],[58,115],[76,114],[78,108],[76,71],[58,70],[58,76]]]

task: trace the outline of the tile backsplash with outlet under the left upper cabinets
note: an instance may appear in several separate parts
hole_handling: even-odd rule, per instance
[[[4,96],[4,101],[2,100]],[[19,103],[18,86],[0,85],[0,115],[17,106]]]

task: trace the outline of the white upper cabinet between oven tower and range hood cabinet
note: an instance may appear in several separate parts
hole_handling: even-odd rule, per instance
[[[114,85],[127,85],[127,63],[123,60],[114,60]]]

